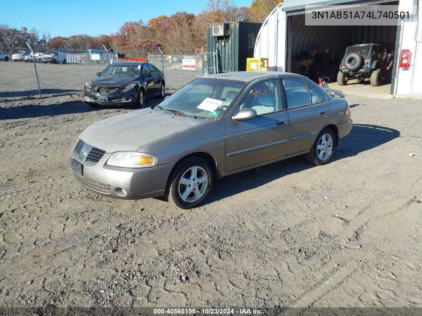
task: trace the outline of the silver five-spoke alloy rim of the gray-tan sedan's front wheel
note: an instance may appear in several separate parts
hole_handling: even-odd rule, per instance
[[[204,168],[194,166],[187,169],[178,184],[180,198],[188,203],[198,201],[208,188],[208,174]]]

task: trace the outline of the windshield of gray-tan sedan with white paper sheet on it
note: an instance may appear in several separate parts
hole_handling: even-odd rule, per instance
[[[246,82],[214,78],[198,78],[160,103],[161,110],[175,115],[214,120],[222,116]]]

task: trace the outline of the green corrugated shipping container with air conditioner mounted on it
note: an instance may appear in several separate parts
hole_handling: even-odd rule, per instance
[[[242,21],[208,25],[207,51],[218,52],[219,72],[246,70],[246,58],[254,56],[261,25]]]

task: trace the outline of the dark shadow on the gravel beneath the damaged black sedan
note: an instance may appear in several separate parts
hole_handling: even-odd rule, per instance
[[[35,100],[35,99],[34,99]],[[42,99],[36,99],[42,102]],[[149,99],[145,102],[145,107],[154,106],[162,101],[161,98]],[[11,107],[0,107],[0,120],[34,118],[42,116],[54,116],[63,114],[85,113],[91,111],[100,111],[102,109],[135,109],[130,106],[89,106],[84,101],[66,101],[49,105],[20,105]],[[117,113],[116,113],[117,115]]]

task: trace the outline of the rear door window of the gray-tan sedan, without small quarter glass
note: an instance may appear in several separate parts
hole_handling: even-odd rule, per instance
[[[282,78],[284,94],[286,95],[286,108],[311,104],[308,85],[298,78]]]

